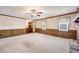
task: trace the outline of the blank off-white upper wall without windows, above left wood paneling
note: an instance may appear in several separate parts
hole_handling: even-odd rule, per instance
[[[0,15],[0,30],[4,29],[24,29],[26,20]]]

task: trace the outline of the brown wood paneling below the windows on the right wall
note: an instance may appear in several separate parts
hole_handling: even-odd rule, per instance
[[[36,28],[36,32],[58,36],[58,37],[70,38],[70,39],[76,39],[76,34],[77,34],[76,30],[69,30],[68,32],[63,32],[63,31],[58,31],[57,29],[42,30],[40,28]]]

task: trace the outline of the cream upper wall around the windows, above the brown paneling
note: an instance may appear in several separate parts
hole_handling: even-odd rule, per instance
[[[76,23],[74,23],[73,19],[76,14],[69,15],[71,19],[69,19],[69,30],[77,30]],[[49,18],[49,19],[42,19],[39,21],[36,21],[36,28],[41,28],[41,24],[43,20],[46,20],[47,22],[47,29],[58,29],[58,24],[62,20],[64,20],[65,16],[55,17],[55,18]]]

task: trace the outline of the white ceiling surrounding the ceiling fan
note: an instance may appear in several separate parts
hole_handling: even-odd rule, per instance
[[[40,17],[31,17],[27,11],[36,9],[42,11]],[[27,20],[40,19],[77,11],[77,6],[0,6],[0,14],[26,18]]]

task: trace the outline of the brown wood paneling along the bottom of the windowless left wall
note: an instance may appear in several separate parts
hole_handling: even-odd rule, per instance
[[[27,33],[27,29],[9,29],[9,30],[0,30],[0,38],[16,36]]]

